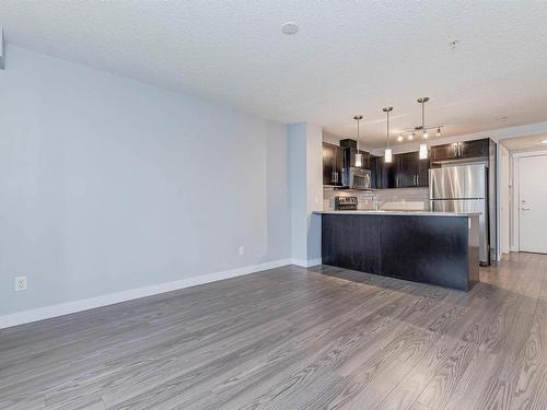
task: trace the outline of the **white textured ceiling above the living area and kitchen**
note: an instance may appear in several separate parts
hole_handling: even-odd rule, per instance
[[[294,21],[300,32],[281,34]],[[547,2],[14,1],[8,43],[370,147],[420,121],[446,136],[547,120]],[[461,43],[455,49],[449,43]],[[9,60],[9,56],[7,56]],[[508,116],[502,119],[502,116]]]

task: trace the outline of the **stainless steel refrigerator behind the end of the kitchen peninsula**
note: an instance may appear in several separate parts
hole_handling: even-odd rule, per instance
[[[490,215],[488,166],[486,163],[451,165],[429,171],[432,211],[480,212],[481,265],[490,265]]]

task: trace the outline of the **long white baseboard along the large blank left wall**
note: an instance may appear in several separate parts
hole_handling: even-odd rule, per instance
[[[196,286],[198,284],[241,277],[244,274],[259,272],[267,269],[279,268],[291,263],[293,263],[292,259],[274,260],[271,262],[246,266],[237,269],[225,270],[223,272],[208,273],[199,277],[181,279],[174,282],[159,283],[159,284],[153,284],[151,286],[109,293],[103,296],[96,296],[74,302],[60,303],[58,305],[39,307],[36,309],[18,312],[0,316],[0,329],[4,329],[16,325],[27,324],[31,321],[49,319],[51,317],[63,316],[71,313],[88,311],[95,307],[113,305],[115,303],[131,301],[133,298],[176,291],[178,289]]]

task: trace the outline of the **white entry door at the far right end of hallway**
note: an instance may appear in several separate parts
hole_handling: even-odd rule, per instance
[[[547,155],[519,159],[519,247],[547,254]]]

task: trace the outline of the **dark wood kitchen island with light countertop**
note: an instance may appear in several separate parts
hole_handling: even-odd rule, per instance
[[[462,291],[479,281],[478,213],[315,213],[324,265]]]

